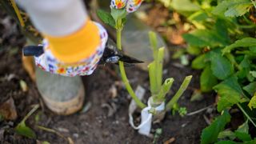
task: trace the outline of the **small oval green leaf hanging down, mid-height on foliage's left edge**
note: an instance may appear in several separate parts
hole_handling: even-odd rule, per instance
[[[206,66],[206,68],[202,71],[200,76],[200,87],[202,92],[210,92],[213,90],[213,86],[218,84],[217,78],[212,74],[210,70],[210,66]]]

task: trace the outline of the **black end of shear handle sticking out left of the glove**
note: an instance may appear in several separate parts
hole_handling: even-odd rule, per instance
[[[40,56],[43,54],[43,46],[25,46],[23,48],[24,56]]]

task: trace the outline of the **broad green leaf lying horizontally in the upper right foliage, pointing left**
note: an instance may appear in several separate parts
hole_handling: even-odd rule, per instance
[[[189,34],[183,34],[182,37],[190,46],[226,46],[226,40],[216,30],[193,30]]]

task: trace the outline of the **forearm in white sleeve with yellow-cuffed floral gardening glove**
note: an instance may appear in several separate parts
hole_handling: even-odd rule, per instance
[[[108,35],[100,24],[90,21],[82,0],[16,1],[44,37],[44,54],[34,57],[37,66],[64,76],[93,73]]]

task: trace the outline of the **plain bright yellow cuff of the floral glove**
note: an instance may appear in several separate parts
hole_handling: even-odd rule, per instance
[[[74,34],[64,37],[45,35],[45,38],[54,57],[67,64],[89,58],[100,45],[98,27],[90,20]]]

